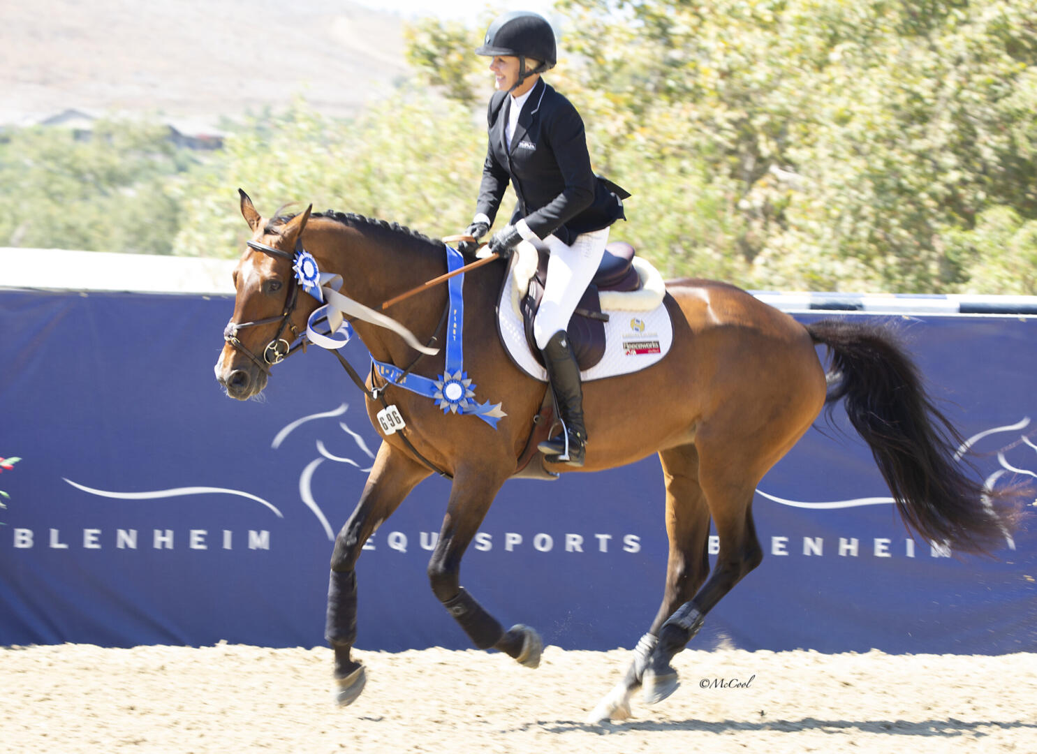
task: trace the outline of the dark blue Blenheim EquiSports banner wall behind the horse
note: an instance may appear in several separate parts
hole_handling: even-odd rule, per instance
[[[324,643],[331,538],[377,436],[318,350],[278,366],[263,400],[225,397],[213,364],[231,309],[221,297],[0,291],[0,454],[22,458],[0,475],[0,645]],[[976,438],[980,472],[1032,477],[1037,324],[898,319]],[[366,369],[362,345],[346,352]],[[1000,560],[915,542],[891,505],[859,504],[888,495],[869,451],[852,430],[829,435],[812,429],[764,478],[754,511],[766,557],[696,645],[1037,650],[1033,533]],[[360,648],[469,646],[425,576],[448,491],[422,482],[368,542]],[[839,501],[851,502],[804,507]],[[461,581],[548,643],[630,646],[662,596],[663,507],[654,458],[511,482]]]

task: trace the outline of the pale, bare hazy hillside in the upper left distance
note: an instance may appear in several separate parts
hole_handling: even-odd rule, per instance
[[[216,123],[299,94],[343,116],[405,72],[400,20],[343,0],[34,0],[0,3],[0,123]]]

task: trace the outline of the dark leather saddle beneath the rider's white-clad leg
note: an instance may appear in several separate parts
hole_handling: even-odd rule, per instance
[[[543,366],[543,356],[536,347],[533,338],[533,320],[540,308],[543,298],[543,285],[548,279],[548,259],[550,253],[546,246],[535,245],[537,251],[537,269],[529,279],[526,295],[522,297],[518,308],[523,315],[523,327],[529,350],[540,366]],[[506,282],[506,281],[505,281]],[[570,347],[577,358],[581,370],[587,370],[597,364],[605,355],[605,323],[609,315],[601,312],[599,292],[607,290],[630,291],[641,285],[641,277],[634,269],[634,247],[624,241],[614,241],[605,248],[601,262],[591,279],[590,285],[584,291],[577,305],[572,318],[565,328],[569,336]]]

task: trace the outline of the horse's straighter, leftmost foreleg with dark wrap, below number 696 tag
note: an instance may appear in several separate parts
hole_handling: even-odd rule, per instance
[[[360,502],[335,537],[325,638],[335,651],[335,697],[343,706],[360,696],[366,682],[363,666],[352,658],[357,639],[357,558],[379,525],[428,474],[423,465],[382,443]]]

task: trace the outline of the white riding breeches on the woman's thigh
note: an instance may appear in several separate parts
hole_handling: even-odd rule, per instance
[[[543,243],[551,249],[551,257],[543,298],[533,320],[533,338],[538,348],[543,348],[552,335],[568,326],[580,298],[601,263],[609,243],[609,228],[581,233],[572,246],[566,246],[554,235],[549,235]]]

